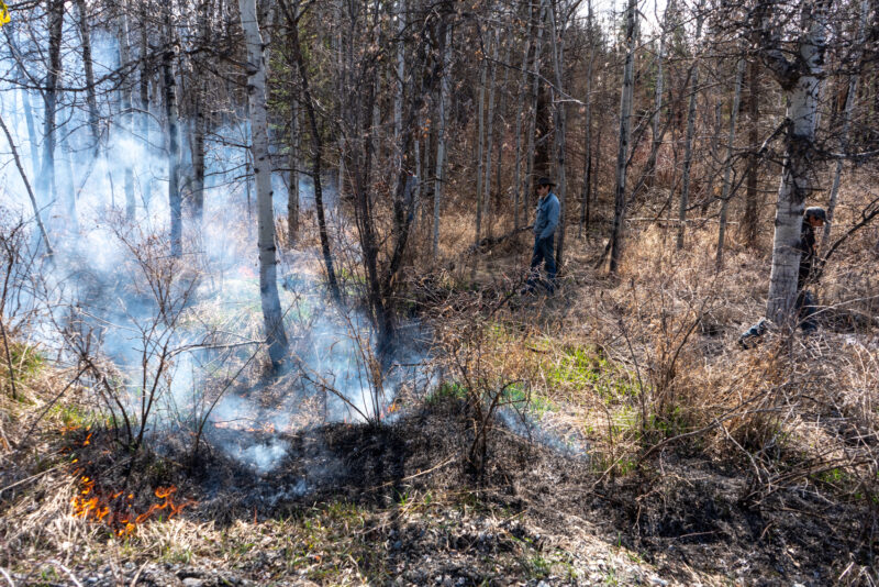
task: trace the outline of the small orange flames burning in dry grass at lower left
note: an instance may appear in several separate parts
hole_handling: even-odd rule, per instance
[[[134,494],[123,497],[124,491],[102,491],[96,488],[94,479],[82,476],[79,479],[79,492],[74,497],[70,505],[74,507],[74,516],[84,520],[91,520],[109,525],[116,536],[127,536],[144,523],[157,511],[166,511],[167,517],[176,516],[187,506],[196,503],[192,500],[176,502],[174,494],[177,487],[158,487],[154,491],[160,502],[153,503],[143,513],[134,510]]]

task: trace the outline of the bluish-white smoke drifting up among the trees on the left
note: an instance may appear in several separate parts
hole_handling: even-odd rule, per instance
[[[69,26],[65,38],[73,43]],[[118,67],[118,46],[114,36],[99,31],[92,45],[100,79]],[[64,54],[60,86],[85,86],[78,47],[66,47]],[[14,78],[7,71],[4,79]],[[262,374],[256,192],[246,180],[248,154],[237,146],[249,136],[246,121],[230,118],[213,129],[205,156],[204,220],[198,226],[187,207],[185,254],[173,259],[167,137],[158,124],[163,113],[153,106],[149,113],[136,113],[131,128],[124,126],[111,81],[98,88],[104,122],[97,157],[85,95],[60,93],[55,186],[37,192],[56,255],[41,273],[38,288],[25,290],[19,284],[18,291],[40,309],[32,328],[46,354],[62,364],[75,363],[82,353],[96,357],[135,424],[145,422],[147,436],[203,430],[209,441],[260,473],[285,457],[287,434],[324,422],[371,419],[387,410],[396,388],[419,375],[411,369],[379,373],[370,320],[330,302],[316,250],[281,255],[278,275],[291,356],[279,376]],[[26,123],[26,101],[35,135]],[[43,162],[34,154],[43,157],[42,98],[0,82],[0,111],[32,187],[40,189]],[[181,125],[185,196],[191,175],[188,137]],[[34,210],[4,140],[0,164],[3,207],[32,221]],[[135,179],[133,219],[125,217],[126,173]],[[333,207],[336,190],[325,182],[333,233],[344,239],[347,219]],[[276,213],[286,214],[281,174],[275,174],[274,186]],[[301,208],[313,208],[311,179],[301,177],[299,187]],[[34,246],[43,247],[33,233]],[[336,245],[356,248],[346,241]],[[416,364],[423,357],[413,346],[397,359]],[[224,429],[236,434],[214,434]]]

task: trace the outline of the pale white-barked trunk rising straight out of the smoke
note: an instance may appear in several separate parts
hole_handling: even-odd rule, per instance
[[[263,36],[256,18],[256,0],[238,0],[241,24],[247,45],[247,95],[251,104],[254,175],[257,198],[257,246],[259,248],[259,297],[266,343],[272,365],[287,356],[287,334],[278,298],[275,218],[271,206],[271,159],[268,153],[268,120],[266,113],[266,64],[263,58]]]

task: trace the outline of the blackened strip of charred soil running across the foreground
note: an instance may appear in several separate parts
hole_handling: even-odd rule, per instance
[[[467,491],[482,507],[533,520],[550,534],[543,540],[564,541],[572,520],[586,520],[607,543],[634,550],[666,576],[690,567],[746,585],[819,586],[835,583],[853,562],[869,565],[863,536],[875,520],[870,512],[805,485],[754,494],[745,468],[668,453],[613,479],[587,459],[530,443],[500,424],[480,476],[464,464],[470,430],[463,406],[450,403],[382,427],[333,424],[266,436],[267,445],[288,444],[269,473],[219,450],[187,461],[182,448],[168,445],[163,458],[179,466],[158,474],[155,466],[145,467],[153,473],[142,480],[175,484],[181,496],[198,501],[187,516],[219,523],[338,500],[380,509],[413,490]],[[214,443],[244,433],[218,434],[211,436]],[[677,578],[687,583],[683,574]]]

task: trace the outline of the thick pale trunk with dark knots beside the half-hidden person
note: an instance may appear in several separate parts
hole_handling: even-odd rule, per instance
[[[826,10],[823,1],[803,7],[803,35],[795,52],[799,56],[797,66],[787,62],[780,52],[767,51],[763,54],[788,98],[785,160],[778,188],[772,270],[766,303],[766,315],[776,323],[782,323],[791,317],[797,299],[800,226],[805,198],[813,189],[811,173],[819,89],[826,51]]]

